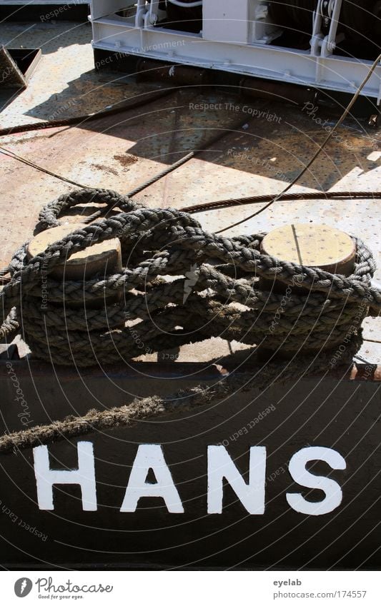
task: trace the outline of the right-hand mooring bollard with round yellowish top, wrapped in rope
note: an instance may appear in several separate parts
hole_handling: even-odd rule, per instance
[[[313,223],[292,223],[274,229],[264,237],[261,252],[265,255],[278,258],[279,261],[290,261],[310,268],[320,268],[341,276],[350,276],[355,269],[356,246],[355,241],[344,231],[327,225]],[[287,286],[281,281],[261,279],[261,287],[275,293],[292,293],[295,295],[308,295],[308,289],[298,284]],[[290,293],[291,291],[291,293]],[[292,301],[291,301],[292,304]],[[327,343],[327,348],[329,344]],[[280,358],[293,358],[297,353],[318,353],[306,343],[302,352],[292,351],[290,348],[276,352],[263,347],[259,348],[259,358],[263,361],[273,358],[276,354]]]

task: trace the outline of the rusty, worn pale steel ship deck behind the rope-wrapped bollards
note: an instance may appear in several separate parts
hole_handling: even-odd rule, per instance
[[[41,63],[28,87],[1,91],[1,128],[102,111],[166,83],[137,83],[120,72],[94,70],[91,26],[83,22],[1,24],[0,43],[9,48],[41,48]],[[112,67],[112,66],[111,66]],[[337,115],[279,101],[241,99],[230,89],[180,86],[172,95],[114,116],[41,131],[1,137],[1,146],[72,181],[127,192],[177,161],[189,149],[202,153],[137,196],[149,207],[181,208],[195,203],[261,193],[276,194],[290,183],[322,143]],[[238,126],[237,126],[238,125]],[[224,137],[212,146],[207,141]],[[326,223],[362,238],[374,253],[381,281],[381,131],[352,118],[340,127],[310,171],[292,191],[322,192],[317,201],[277,202],[227,236],[270,231],[287,223]],[[47,173],[1,154],[0,266],[31,238],[40,209],[73,188]],[[325,191],[369,191],[369,198],[329,201]],[[256,205],[255,211],[261,208]],[[93,209],[94,210],[94,209]],[[253,206],[222,208],[197,218],[209,231],[229,226],[254,212]],[[91,212],[91,211],[89,211]],[[78,221],[71,216],[69,221]],[[365,320],[367,362],[381,359],[381,319]],[[19,355],[28,350],[16,338]],[[244,355],[246,346],[219,338],[184,345],[165,360],[210,362]],[[243,352],[243,353],[242,353]],[[157,355],[147,355],[149,362]],[[158,361],[163,358],[159,357]]]

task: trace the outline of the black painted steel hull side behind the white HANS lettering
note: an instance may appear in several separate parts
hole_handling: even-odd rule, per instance
[[[169,393],[204,380],[219,380],[216,368],[194,373],[194,365],[168,365],[154,376],[154,364],[128,372],[62,373],[39,370],[21,377],[33,424],[111,407],[134,395]],[[4,365],[5,367],[5,365]],[[2,425],[20,428],[19,405],[2,368]],[[192,373],[188,371],[192,370]],[[141,371],[144,370],[144,376]],[[177,371],[176,373],[174,371]],[[199,368],[201,371],[201,366]],[[23,375],[24,372],[24,375]],[[365,378],[371,370],[365,369]],[[152,378],[149,378],[149,375]],[[187,379],[187,375],[192,379]],[[354,569],[380,566],[380,383],[329,378],[302,379],[295,385],[230,396],[226,401],[50,445],[52,469],[78,465],[76,445],[94,447],[97,511],[83,511],[79,485],[54,487],[54,510],[36,503],[31,450],[1,455],[1,564],[11,567],[52,564],[68,567],[246,567]],[[130,394],[130,395],[128,395]],[[41,398],[41,399],[40,399]],[[162,445],[184,513],[169,513],[162,498],[142,498],[136,512],[120,512],[139,445]],[[207,513],[207,449],[223,445],[247,483],[249,448],[266,448],[265,509],[250,515],[231,486],[224,486],[221,514]],[[345,470],[326,463],[307,469],[330,477],[342,490],[342,503],[325,515],[304,515],[287,503],[287,493],[320,501],[321,490],[293,482],[289,463],[303,448],[319,446],[339,453]],[[148,476],[148,481],[154,478]],[[28,528],[27,528],[28,527]],[[35,532],[34,532],[35,531]],[[42,537],[38,536],[42,533]]]

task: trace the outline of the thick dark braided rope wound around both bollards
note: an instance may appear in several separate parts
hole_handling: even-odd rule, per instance
[[[358,239],[355,271],[345,278],[263,255],[264,234],[207,233],[185,212],[144,208],[101,189],[60,196],[41,211],[40,227],[57,226],[69,208],[90,202],[121,212],[77,229],[30,261],[23,246],[10,263],[11,280],[0,293],[1,330],[6,334],[17,320],[36,358],[104,365],[212,336],[274,351],[295,352],[307,342],[317,352],[343,341],[360,347],[362,320],[370,308],[380,313],[381,293],[371,284],[375,262]],[[122,243],[121,273],[84,281],[49,276],[74,252],[115,237]],[[288,298],[263,288],[263,278],[290,286]],[[107,303],[121,291],[121,303]],[[102,309],[91,308],[99,298]]]

